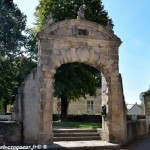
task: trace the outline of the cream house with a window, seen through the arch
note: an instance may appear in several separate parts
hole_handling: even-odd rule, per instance
[[[60,113],[57,108],[58,100],[54,98],[53,113]],[[87,98],[80,98],[77,101],[69,103],[68,114],[100,114],[102,103],[101,88],[97,88],[96,97],[88,96]]]

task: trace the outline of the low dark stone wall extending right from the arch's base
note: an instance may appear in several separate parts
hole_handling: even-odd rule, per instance
[[[127,122],[127,143],[148,133],[150,133],[150,128],[146,125],[145,119]]]

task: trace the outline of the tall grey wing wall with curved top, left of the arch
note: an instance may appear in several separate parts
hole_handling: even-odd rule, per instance
[[[16,96],[12,120],[23,122],[24,143],[37,143],[39,134],[42,71],[39,67],[26,77]]]

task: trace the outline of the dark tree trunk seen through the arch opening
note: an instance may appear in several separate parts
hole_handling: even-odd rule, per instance
[[[61,96],[61,121],[67,121],[67,109],[68,109],[68,99],[67,97]]]

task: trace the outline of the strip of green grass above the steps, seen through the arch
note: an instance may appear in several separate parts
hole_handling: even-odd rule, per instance
[[[86,122],[53,122],[53,127],[60,128],[88,128],[97,129],[101,128],[101,123],[86,123]]]

